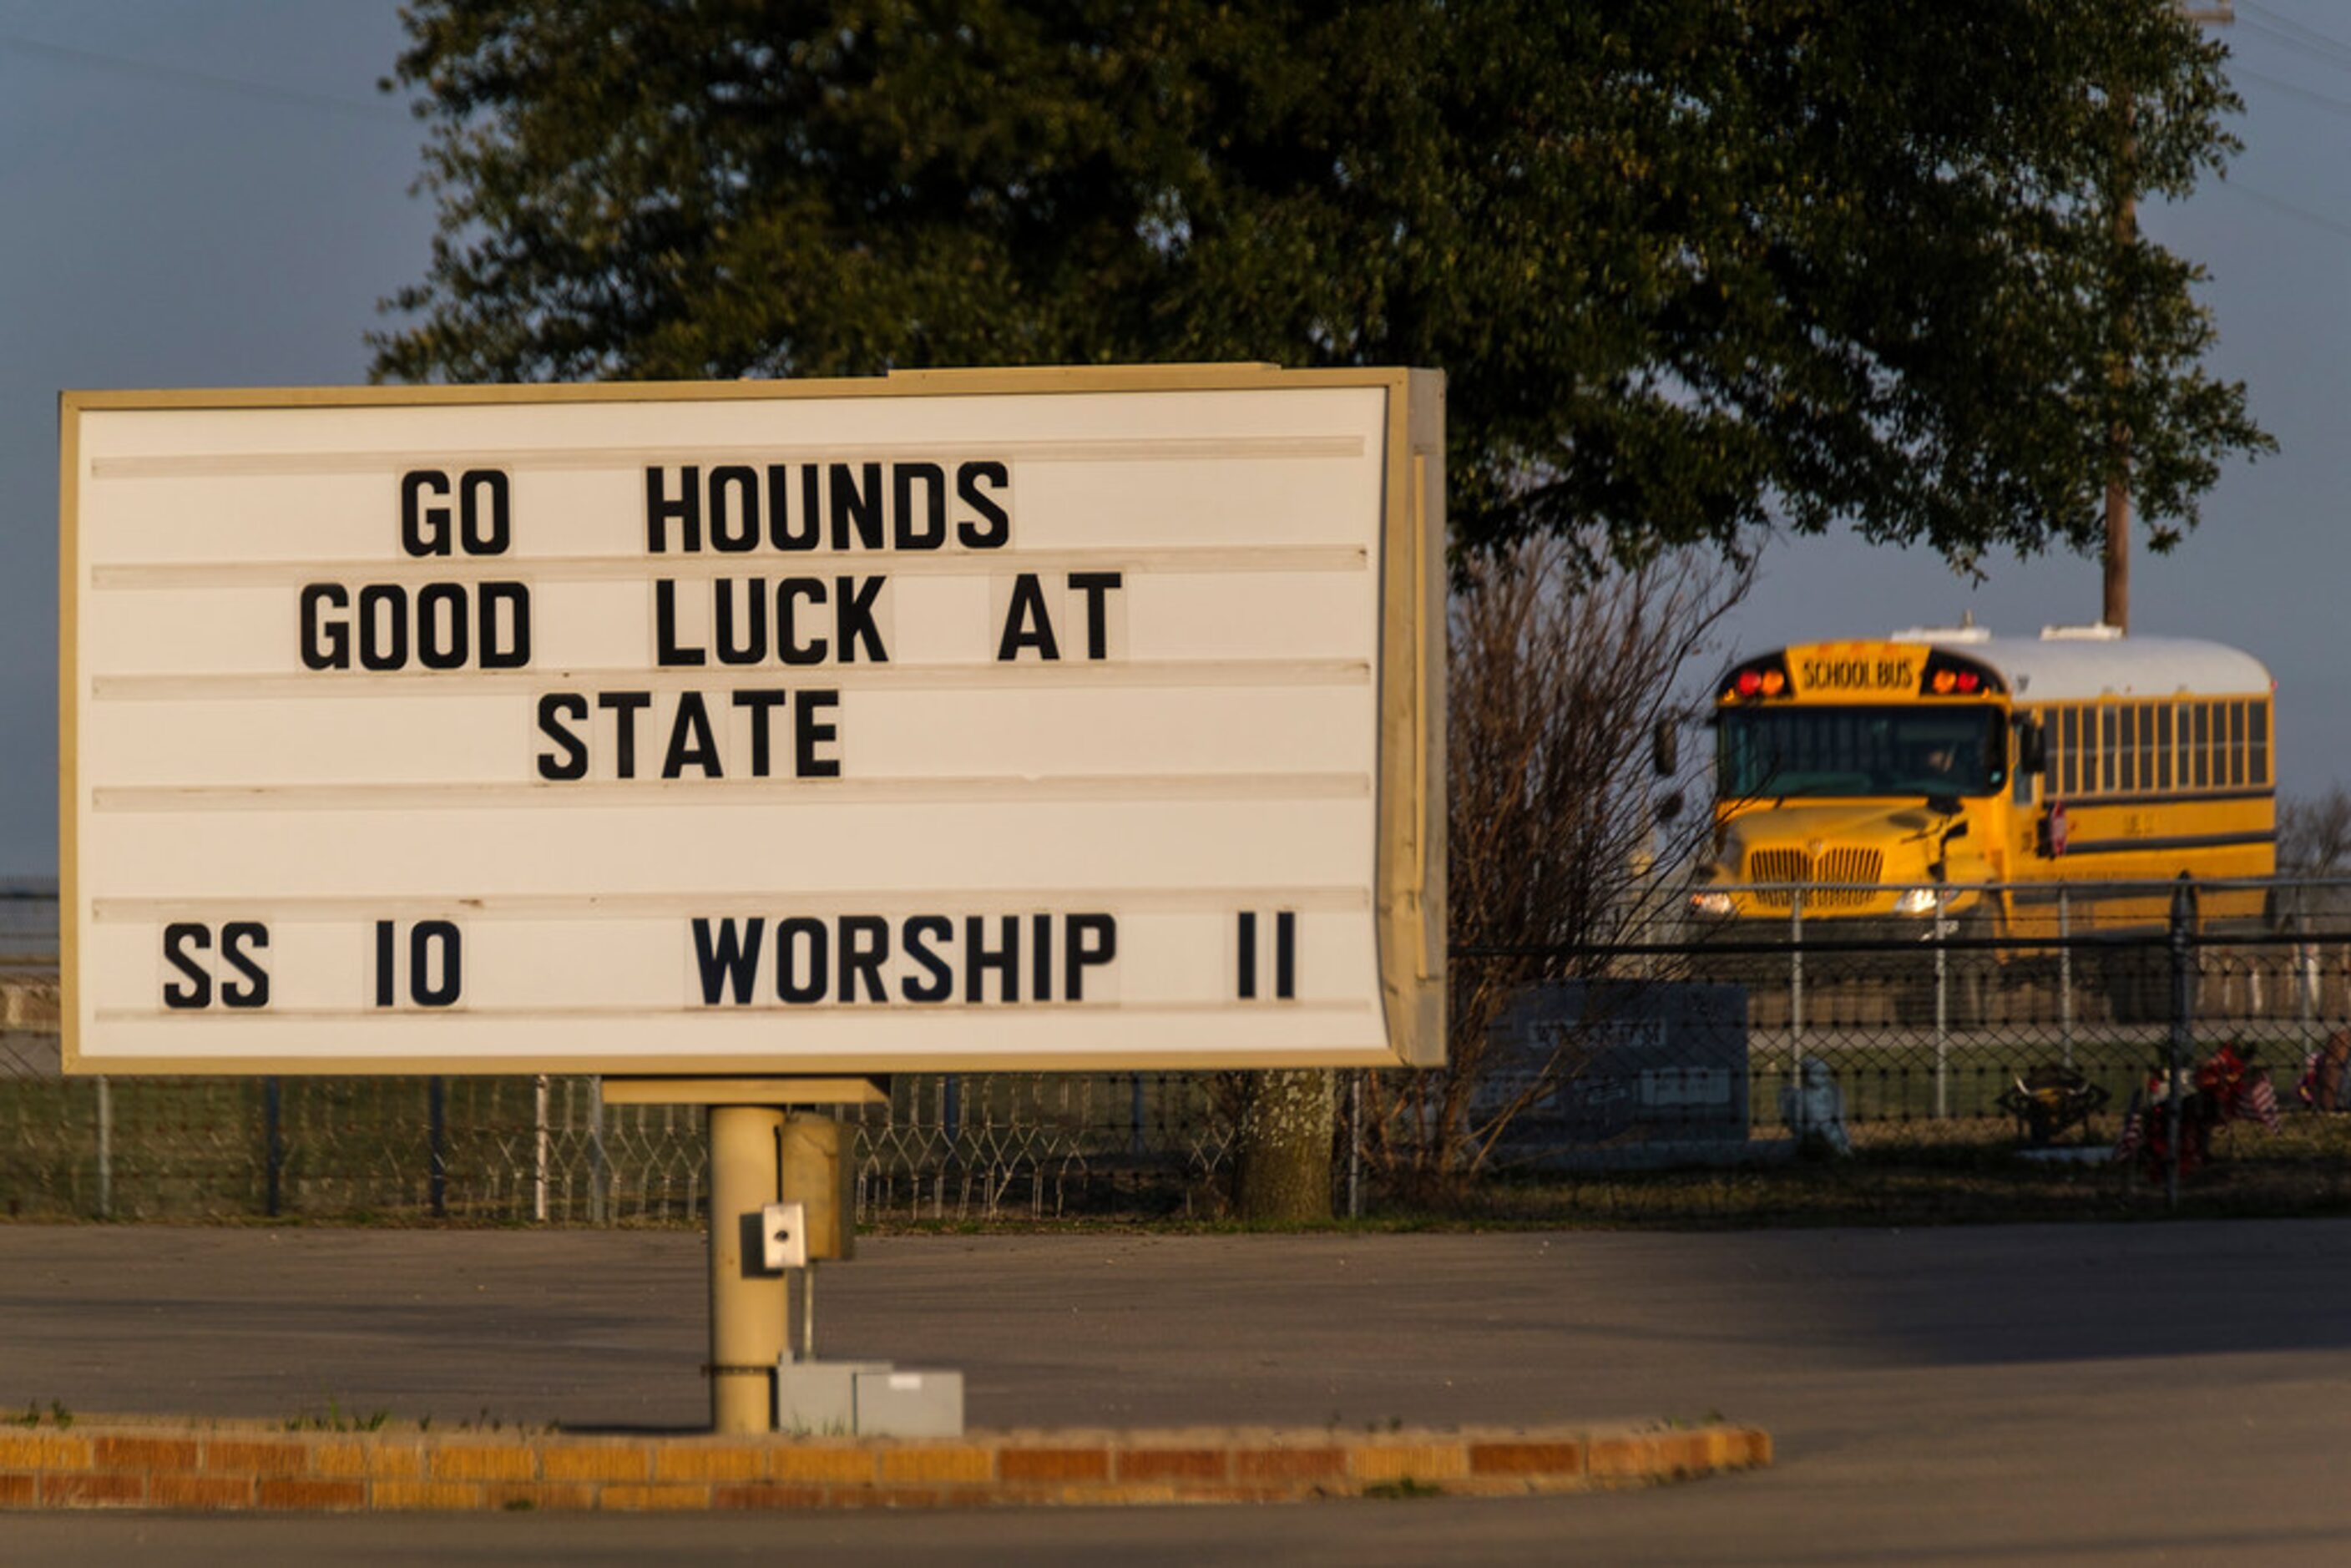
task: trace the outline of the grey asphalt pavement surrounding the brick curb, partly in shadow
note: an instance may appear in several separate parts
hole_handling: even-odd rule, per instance
[[[0,1413],[694,1427],[686,1232],[0,1227]],[[2351,1561],[2351,1222],[907,1237],[818,1349],[973,1425],[1756,1422],[1646,1493],[757,1519],[5,1516],[0,1563]]]

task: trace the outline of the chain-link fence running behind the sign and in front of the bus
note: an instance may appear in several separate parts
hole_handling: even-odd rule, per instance
[[[2332,1114],[2351,1110],[2351,884],[1925,889],[1918,914],[1871,919],[1850,889],[1751,891],[1768,917],[1660,896],[1608,945],[1458,947],[1479,1041],[1458,1037],[1446,1074],[1342,1081],[1342,1208],[1796,1154],[1886,1182],[2022,1159],[2135,1201],[2215,1166],[2304,1187],[2351,1171]],[[63,1079],[54,933],[54,896],[0,896],[0,1213],[698,1215],[701,1112],[604,1105],[585,1077]],[[844,1112],[860,1215],[1208,1213],[1225,1088],[900,1074],[886,1107]]]

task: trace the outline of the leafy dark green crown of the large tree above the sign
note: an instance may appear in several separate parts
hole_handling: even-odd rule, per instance
[[[1462,541],[2156,548],[2266,444],[2172,0],[416,0],[383,378],[1451,371]]]

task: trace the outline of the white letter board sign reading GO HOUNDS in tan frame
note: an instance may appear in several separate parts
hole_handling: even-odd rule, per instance
[[[1441,1056],[1422,371],[68,393],[66,1065]]]

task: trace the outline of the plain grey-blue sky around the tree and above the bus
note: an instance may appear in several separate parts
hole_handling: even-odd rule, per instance
[[[2182,548],[2135,548],[2132,630],[2262,658],[2309,797],[2351,783],[2351,2],[2236,0],[2222,38],[2245,153],[2142,221],[2210,268],[2210,364],[2280,451],[2229,468]],[[423,127],[376,92],[400,45],[395,0],[0,0],[0,877],[56,872],[56,395],[364,381],[433,237]],[[2092,559],[1984,569],[1777,541],[1723,661],[2099,616]]]

